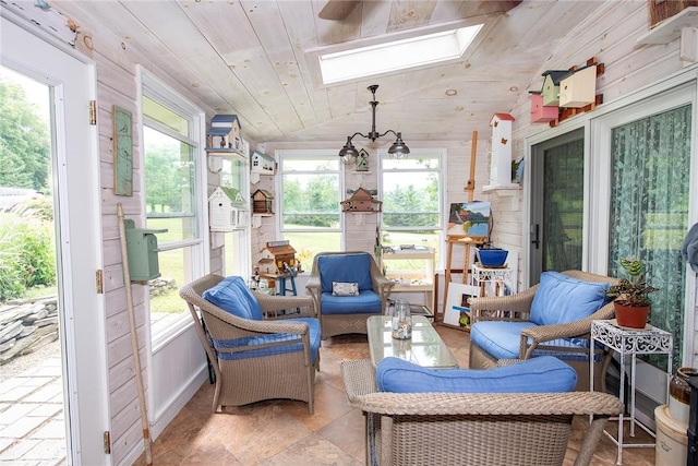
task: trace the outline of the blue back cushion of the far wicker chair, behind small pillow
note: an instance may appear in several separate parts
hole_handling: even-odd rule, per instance
[[[332,292],[333,282],[358,283],[359,291],[373,288],[368,253],[321,255],[317,268],[323,292]]]

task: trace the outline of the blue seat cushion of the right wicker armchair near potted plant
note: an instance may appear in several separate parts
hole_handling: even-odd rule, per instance
[[[474,345],[480,347],[496,360],[518,359],[519,346],[521,342],[521,331],[531,326],[535,325],[531,322],[477,322],[470,328],[470,339]],[[537,358],[540,356],[554,356],[564,361],[589,360],[589,339],[587,338],[557,338],[551,342],[545,342],[545,346],[585,349],[585,351],[566,353],[564,349],[539,348],[533,351],[532,357]],[[601,348],[602,345],[599,345],[599,347]],[[597,356],[594,356],[594,360],[600,360],[603,358],[603,355],[598,354]]]

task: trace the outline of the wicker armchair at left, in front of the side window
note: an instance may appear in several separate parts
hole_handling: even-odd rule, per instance
[[[183,286],[179,294],[189,304],[198,337],[215,371],[216,390],[213,411],[219,413],[224,406],[242,406],[263,399],[289,398],[308,403],[309,414],[313,414],[315,371],[320,370],[320,353],[314,363],[311,353],[309,324],[299,316],[316,318],[314,302],[310,297],[266,296],[252,292],[265,315],[278,314],[281,310],[298,310],[300,313],[280,315],[274,320],[249,320],[238,318],[205,300],[202,295],[222,280],[220,275],[209,274]],[[201,312],[201,319],[198,316]],[[202,320],[203,324],[202,325]],[[277,342],[252,345],[255,337],[278,335]],[[289,336],[291,334],[291,336]],[[214,348],[212,339],[237,340],[248,345]],[[288,350],[289,345],[298,345],[298,350]],[[224,359],[221,353],[254,350],[261,356],[242,359]]]

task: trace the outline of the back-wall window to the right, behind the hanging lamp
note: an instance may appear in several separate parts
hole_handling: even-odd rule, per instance
[[[444,155],[441,150],[416,150],[408,158],[398,160],[387,153],[381,154],[383,247],[413,244],[438,251],[443,232]]]

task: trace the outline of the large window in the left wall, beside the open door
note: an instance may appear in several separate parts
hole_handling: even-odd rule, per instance
[[[204,273],[203,113],[148,74],[143,74],[143,146],[146,227],[157,234],[160,277],[151,283],[154,346],[188,323],[179,288]]]

